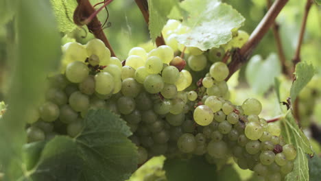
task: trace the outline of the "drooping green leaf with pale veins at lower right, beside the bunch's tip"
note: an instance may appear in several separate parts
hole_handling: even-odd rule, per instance
[[[307,136],[298,128],[291,112],[281,121],[281,130],[286,143],[296,147],[297,156],[294,160],[294,169],[287,174],[285,180],[309,180],[309,167],[306,154],[313,155],[313,150]]]

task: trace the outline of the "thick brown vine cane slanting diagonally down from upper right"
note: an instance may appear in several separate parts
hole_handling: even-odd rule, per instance
[[[257,47],[263,36],[268,32],[271,25],[274,23],[276,16],[281,12],[285,4],[289,0],[276,0],[272,4],[271,8],[268,10],[268,12],[265,14],[259,25],[254,29],[252,34],[250,35],[250,38],[248,38],[248,41],[246,42],[243,47],[233,54],[233,61],[228,64],[228,69],[230,70],[230,73],[226,80],[230,78],[230,76],[237,71],[242,64],[247,62],[248,58],[250,57],[252,51]]]

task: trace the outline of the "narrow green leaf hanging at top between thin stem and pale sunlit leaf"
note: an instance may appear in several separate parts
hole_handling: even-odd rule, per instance
[[[153,41],[160,36],[167,23],[167,15],[176,4],[177,0],[148,0],[148,12],[150,13],[148,28]]]

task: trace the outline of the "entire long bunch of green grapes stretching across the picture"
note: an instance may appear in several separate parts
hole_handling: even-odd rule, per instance
[[[101,108],[127,122],[139,164],[160,154],[198,155],[217,165],[233,157],[239,167],[265,180],[282,180],[292,171],[296,149],[283,141],[276,124],[259,118],[261,103],[246,99],[235,106],[226,99],[228,68],[218,61],[223,47],[191,53],[191,72],[177,66],[185,61],[167,45],[148,53],[134,47],[124,66],[98,39],[86,45],[67,43],[62,49],[62,73],[48,77],[45,100],[26,118],[28,142],[56,134],[75,137],[82,132],[86,112]],[[211,52],[217,60],[207,60]],[[200,57],[205,66],[197,64]],[[207,70],[209,62],[202,84],[189,90],[192,74]]]

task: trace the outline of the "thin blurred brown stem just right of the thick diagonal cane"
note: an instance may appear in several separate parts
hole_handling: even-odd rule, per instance
[[[271,0],[267,0],[267,5],[268,5],[268,8],[270,9],[271,5],[272,5],[272,1]],[[274,21],[274,23],[272,24],[272,32],[273,32],[273,35],[274,35],[276,48],[277,48],[277,51],[278,51],[278,59],[281,62],[283,73],[285,75],[287,75],[287,77],[291,78],[292,75],[293,75],[293,72],[292,72],[291,67],[289,67],[289,64],[287,64],[287,59],[285,58],[285,53],[283,51],[280,32],[278,31],[279,27],[280,26],[278,25],[278,23],[276,23]]]

